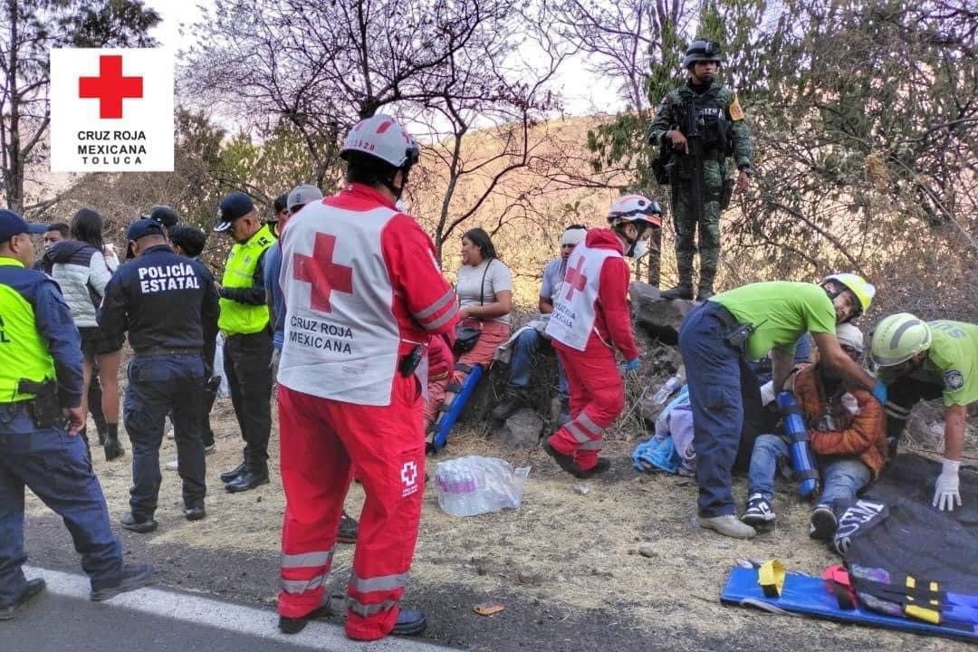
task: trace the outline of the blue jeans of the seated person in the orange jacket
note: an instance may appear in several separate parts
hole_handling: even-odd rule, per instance
[[[747,484],[751,494],[760,494],[767,500],[775,497],[775,475],[778,464],[788,463],[788,445],[777,435],[761,435],[754,441],[754,453],[750,456],[750,472]],[[822,475],[822,496],[818,504],[833,506],[835,500],[853,500],[867,486],[872,473],[862,460],[856,457],[822,457],[819,463]]]

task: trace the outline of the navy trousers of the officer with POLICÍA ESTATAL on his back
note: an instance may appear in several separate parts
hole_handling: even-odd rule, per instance
[[[171,413],[177,446],[177,468],[183,480],[186,507],[202,507],[204,486],[203,360],[200,356],[173,355],[133,358],[127,369],[122,418],[132,442],[132,489],[129,506],[137,520],[153,518],[162,476],[159,445],[163,419]]]

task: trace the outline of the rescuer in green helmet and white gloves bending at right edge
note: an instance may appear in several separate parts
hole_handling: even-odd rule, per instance
[[[961,505],[957,469],[964,451],[967,407],[978,401],[978,326],[910,313],[884,318],[872,333],[872,361],[887,384],[887,437],[891,456],[919,400],[944,399],[944,459],[933,505],[952,511]]]

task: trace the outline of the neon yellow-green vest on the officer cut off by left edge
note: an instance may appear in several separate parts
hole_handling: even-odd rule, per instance
[[[0,265],[23,267],[13,258],[0,258]],[[0,283],[0,403],[34,398],[17,390],[22,378],[41,382],[55,377],[55,361],[37,331],[34,308],[20,292]]]

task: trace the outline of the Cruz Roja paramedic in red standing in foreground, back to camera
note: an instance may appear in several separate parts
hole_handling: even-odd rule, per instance
[[[363,120],[340,151],[346,187],[307,204],[282,235],[285,632],[328,610],[324,589],[354,475],[367,497],[346,634],[374,640],[425,626],[422,612],[399,606],[422,511],[425,349],[431,336],[451,336],[458,309],[431,239],[394,205],[418,154],[390,116]]]

